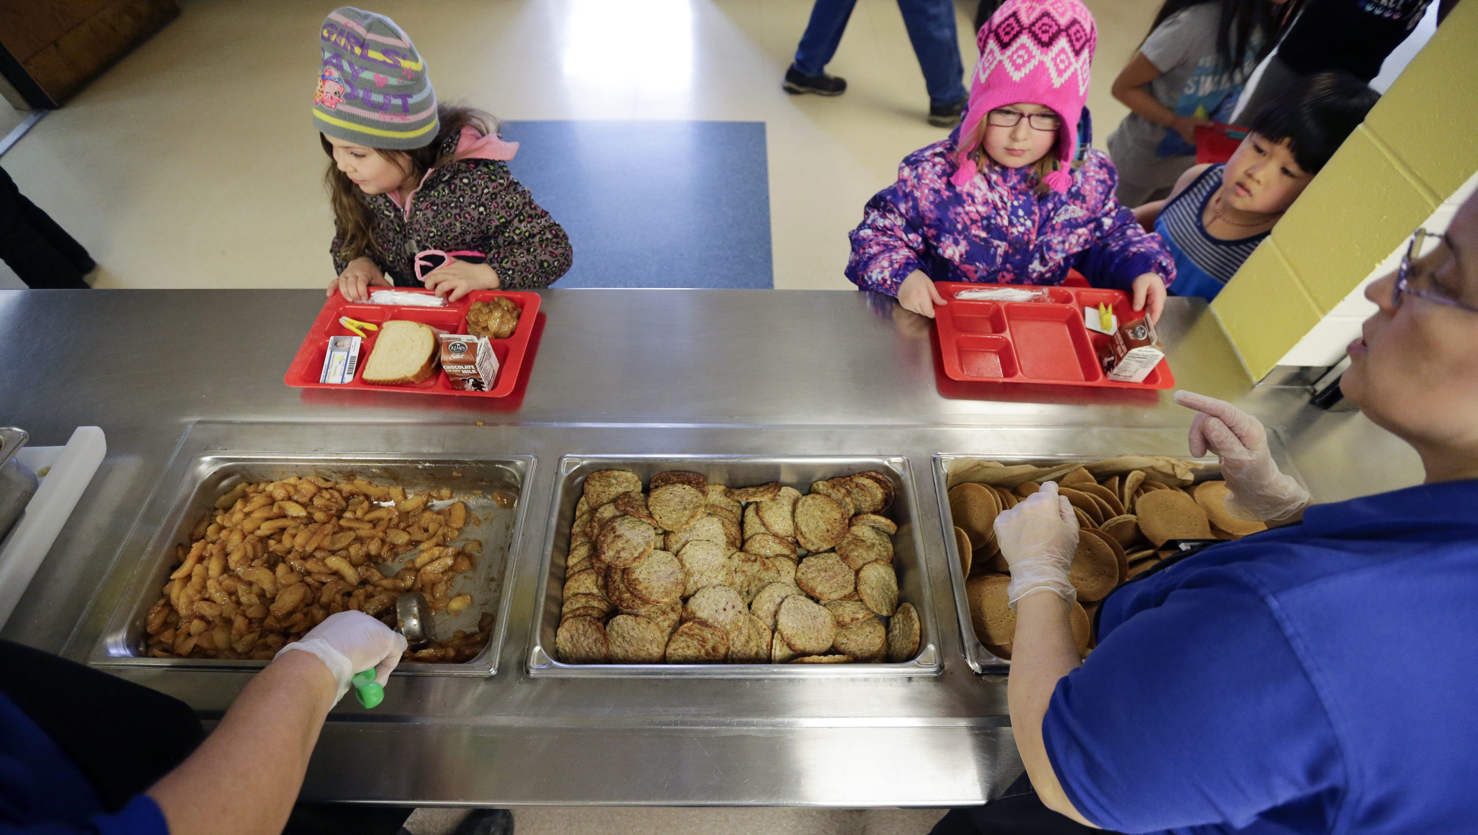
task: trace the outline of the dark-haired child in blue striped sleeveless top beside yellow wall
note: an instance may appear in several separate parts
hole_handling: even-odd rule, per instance
[[[1379,98],[1342,72],[1299,78],[1231,160],[1187,170],[1168,200],[1137,208],[1175,257],[1175,294],[1215,299]]]

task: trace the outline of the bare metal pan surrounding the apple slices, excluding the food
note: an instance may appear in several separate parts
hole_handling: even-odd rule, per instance
[[[477,630],[483,612],[494,613],[494,628],[488,646],[463,664],[403,662],[395,675],[492,675],[507,630],[508,554],[523,528],[526,501],[522,497],[534,468],[534,457],[507,455],[477,458],[469,455],[384,455],[384,454],[273,454],[273,452],[202,452],[185,464],[185,477],[173,492],[157,492],[143,517],[163,517],[164,523],[148,531],[136,526],[139,542],[126,545],[124,554],[137,554],[134,576],[93,647],[90,662],[99,667],[124,668],[256,668],[265,661],[151,658],[143,653],[148,640],[143,624],[149,607],[160,599],[160,588],[176,563],[174,547],[188,545],[191,531],[202,514],[214,510],[219,497],[242,482],[266,482],[288,476],[319,476],[330,480],[365,479],[378,485],[402,486],[408,491],[449,488],[455,500],[467,504],[477,525],[463,528],[464,538],[482,541],[477,568],[458,581],[458,593],[471,594],[473,604],[457,616],[445,612],[433,615],[436,634],[451,635],[455,630]],[[176,468],[177,471],[177,468]],[[482,491],[473,495],[471,491]],[[498,507],[494,494],[514,497],[513,507]],[[158,513],[154,513],[158,511]]]

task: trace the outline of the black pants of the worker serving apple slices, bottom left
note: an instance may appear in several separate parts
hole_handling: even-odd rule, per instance
[[[117,811],[205,737],[164,693],[22,644],[0,641],[0,692],[47,733]],[[412,807],[297,804],[284,835],[395,835]]]

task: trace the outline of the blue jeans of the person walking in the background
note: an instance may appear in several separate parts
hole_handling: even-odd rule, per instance
[[[841,34],[857,0],[816,0],[811,22],[806,25],[801,46],[795,49],[795,68],[803,75],[820,75],[837,55]],[[962,78],[965,65],[959,58],[955,31],[955,4],[950,0],[899,0],[903,25],[909,30],[913,55],[924,71],[931,105],[953,105],[970,98]]]

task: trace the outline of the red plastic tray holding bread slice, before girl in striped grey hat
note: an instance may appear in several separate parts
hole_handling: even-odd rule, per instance
[[[424,293],[433,296],[430,290],[398,287],[402,293]],[[464,392],[452,389],[446,381],[446,372],[436,369],[436,374],[423,383],[412,386],[372,386],[364,381],[365,362],[374,350],[377,331],[365,331],[364,344],[359,346],[359,368],[355,369],[353,383],[319,383],[324,372],[324,355],[328,353],[328,337],[353,335],[353,331],[338,324],[340,316],[359,319],[383,325],[392,319],[409,319],[424,322],[433,328],[449,334],[467,333],[467,309],[473,301],[491,301],[498,296],[507,296],[519,306],[519,327],[505,340],[491,340],[492,353],[498,356],[498,377],[494,378],[492,389],[486,392]],[[534,333],[534,321],[539,313],[539,294],[520,293],[516,290],[473,290],[445,307],[399,307],[395,304],[368,304],[349,301],[343,294],[333,294],[324,309],[313,319],[313,327],[307,330],[303,346],[297,349],[293,365],[288,367],[282,378],[288,386],[299,389],[361,389],[371,392],[409,392],[417,395],[471,395],[474,398],[503,398],[513,392],[519,381],[519,368],[523,365],[523,353],[529,347],[529,335]]]

